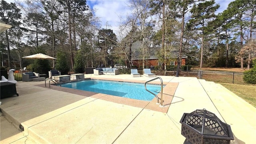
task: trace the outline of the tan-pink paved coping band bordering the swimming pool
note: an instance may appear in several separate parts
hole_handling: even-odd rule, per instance
[[[144,84],[145,82],[142,80],[126,80],[126,79],[115,79],[115,78],[99,78],[99,77],[91,77],[91,78],[86,78],[86,79],[92,79],[92,80],[110,80],[110,81],[118,81],[118,82],[132,82],[132,83],[141,83]],[[75,81],[72,81],[75,82]],[[158,81],[154,82],[149,82],[149,84],[161,84]],[[143,108],[143,109],[148,109],[148,110],[154,110],[158,112],[164,112],[167,113],[168,109],[170,107],[170,104],[172,102],[172,98],[174,96],[174,93],[176,91],[176,88],[178,87],[178,82],[163,82],[165,85],[163,88],[163,106],[160,106],[160,104],[157,103],[156,97],[153,98],[151,101],[144,101],[144,100],[135,100],[131,98],[124,98],[120,96],[113,96],[109,94],[102,94],[102,93],[96,93],[96,92],[89,92],[89,91],[84,91],[84,90],[75,90],[72,88],[65,88],[61,86],[56,86],[51,84],[50,88],[48,86],[45,87],[45,84],[38,84],[36,86],[44,87],[44,88],[49,88],[52,90],[58,90],[62,92],[68,92],[71,94],[78,94],[81,96],[86,96],[86,97],[92,97],[100,100],[106,100],[109,102],[115,102],[118,104],[124,104],[128,106],[135,106],[138,108]],[[161,102],[161,94],[158,94],[159,102]]]

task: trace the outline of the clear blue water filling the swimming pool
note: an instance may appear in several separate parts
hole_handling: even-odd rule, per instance
[[[66,88],[74,88],[77,90],[86,90],[102,94],[110,94],[113,96],[121,96],[136,100],[151,101],[154,98],[153,94],[147,92],[144,84],[130,82],[114,82],[107,80],[83,80],[79,82],[71,82],[62,84]],[[161,91],[160,85],[147,84],[147,89],[158,94]]]

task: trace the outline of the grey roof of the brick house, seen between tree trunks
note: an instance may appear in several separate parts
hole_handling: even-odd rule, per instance
[[[153,59],[158,59],[157,53],[161,50],[161,46],[154,46],[154,47],[149,47],[146,46],[146,57],[145,59],[148,60],[153,60]],[[142,60],[142,42],[137,40],[132,44],[132,59],[133,60]],[[172,50],[170,52],[169,58],[178,58],[179,56],[179,51],[178,50]],[[182,58],[188,58],[188,56],[184,55]]]

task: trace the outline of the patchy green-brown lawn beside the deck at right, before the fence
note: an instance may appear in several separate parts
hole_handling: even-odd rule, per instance
[[[255,85],[228,84],[228,83],[220,83],[220,84],[256,108],[256,86]]]

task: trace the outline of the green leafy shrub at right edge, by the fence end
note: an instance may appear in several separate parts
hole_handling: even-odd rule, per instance
[[[244,72],[244,81],[248,84],[256,84],[256,59],[252,60],[252,68]]]

